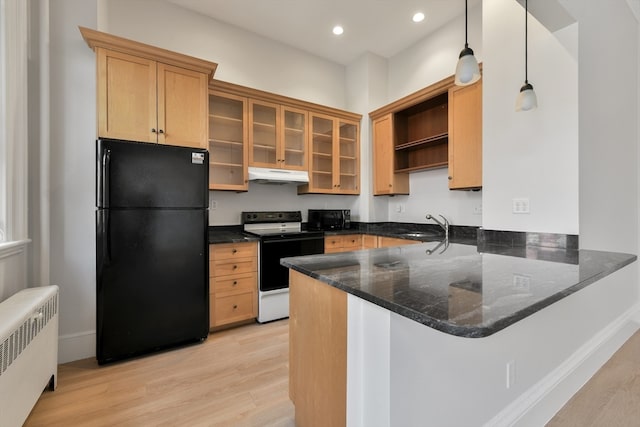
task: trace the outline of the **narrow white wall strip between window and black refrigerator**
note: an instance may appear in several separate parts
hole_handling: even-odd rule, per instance
[[[96,1],[56,1],[51,41],[51,283],[60,287],[60,363],[95,354]]]

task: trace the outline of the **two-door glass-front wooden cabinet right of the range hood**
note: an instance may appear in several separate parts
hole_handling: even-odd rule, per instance
[[[298,194],[360,194],[360,126],[327,115],[310,115],[309,184]]]

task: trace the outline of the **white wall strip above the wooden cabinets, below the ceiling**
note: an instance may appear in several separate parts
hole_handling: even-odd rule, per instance
[[[106,12],[101,31],[216,62],[219,80],[346,107],[339,64],[164,1],[108,0]]]

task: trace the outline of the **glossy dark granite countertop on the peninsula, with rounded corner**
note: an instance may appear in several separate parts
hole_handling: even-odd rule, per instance
[[[593,250],[479,252],[473,245],[429,242],[283,258],[281,264],[426,326],[477,338],[635,260]]]

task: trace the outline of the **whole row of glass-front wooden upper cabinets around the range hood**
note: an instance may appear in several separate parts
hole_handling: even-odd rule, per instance
[[[247,191],[247,167],[255,166],[308,171],[309,184],[299,186],[299,194],[359,194],[360,114],[220,80],[214,80],[210,90],[211,111],[235,112],[223,114],[234,117],[230,120],[211,114],[210,147],[218,147],[218,155],[210,148],[211,189]],[[228,107],[231,99],[236,100],[233,109]],[[244,108],[246,113],[241,114]],[[246,134],[241,130],[245,128]],[[235,144],[217,142],[228,139],[219,135],[229,132]],[[241,145],[248,153],[242,162]],[[231,184],[234,178],[237,181]]]

